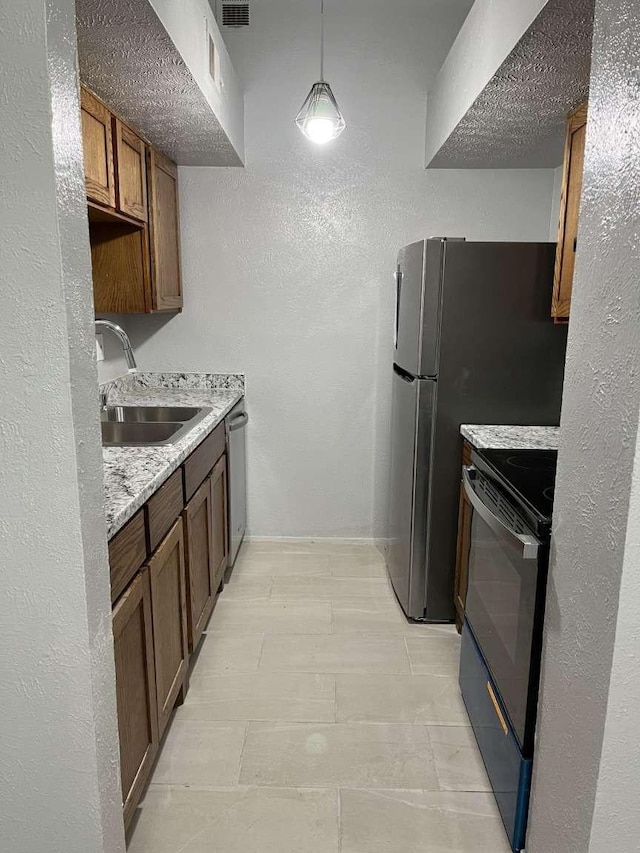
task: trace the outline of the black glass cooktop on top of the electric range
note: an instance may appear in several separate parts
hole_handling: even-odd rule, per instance
[[[476,454],[493,469],[487,473],[524,509],[533,510],[539,521],[551,521],[557,450],[478,450]]]

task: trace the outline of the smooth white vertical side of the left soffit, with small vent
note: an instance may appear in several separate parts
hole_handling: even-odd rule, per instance
[[[150,2],[238,157],[244,162],[244,92],[209,3],[207,0]],[[218,53],[219,85],[209,74],[209,35]]]

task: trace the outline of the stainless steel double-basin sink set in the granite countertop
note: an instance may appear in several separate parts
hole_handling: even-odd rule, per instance
[[[175,444],[211,411],[187,406],[110,406],[101,414],[102,446]]]

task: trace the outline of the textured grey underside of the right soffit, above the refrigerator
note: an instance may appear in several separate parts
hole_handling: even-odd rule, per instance
[[[589,92],[594,0],[549,0],[428,164],[554,168],[567,113]]]

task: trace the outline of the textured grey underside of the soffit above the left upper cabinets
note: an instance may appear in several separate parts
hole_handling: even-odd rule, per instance
[[[241,166],[148,0],[76,0],[80,79],[183,166]]]

